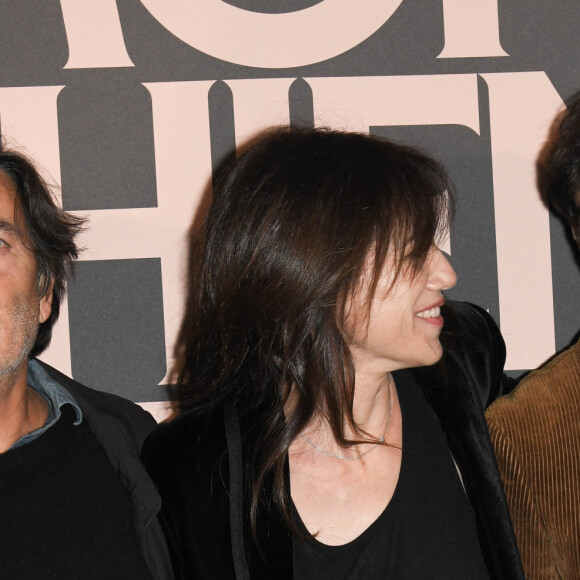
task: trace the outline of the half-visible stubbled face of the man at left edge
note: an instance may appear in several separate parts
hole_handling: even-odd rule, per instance
[[[28,353],[38,325],[50,315],[52,294],[39,297],[36,259],[20,212],[15,215],[16,188],[0,171],[0,398],[4,377],[26,378]],[[14,384],[14,381],[8,381]],[[6,384],[8,384],[6,383]]]

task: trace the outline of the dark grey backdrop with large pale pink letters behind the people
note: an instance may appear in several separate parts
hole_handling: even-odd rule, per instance
[[[89,218],[47,362],[161,404],[185,240],[212,168],[282,123],[370,131],[449,168],[454,298],[489,309],[507,368],[580,329],[578,256],[535,162],[580,88],[576,0],[18,0],[3,10],[0,123]]]

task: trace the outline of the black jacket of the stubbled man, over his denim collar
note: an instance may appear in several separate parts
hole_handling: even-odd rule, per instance
[[[133,506],[137,541],[153,578],[171,580],[169,552],[157,519],[161,498],[139,459],[143,441],[155,427],[155,420],[127,399],[89,389],[51,366],[38,362],[75,398],[83,412],[83,422],[102,445],[127,488]]]

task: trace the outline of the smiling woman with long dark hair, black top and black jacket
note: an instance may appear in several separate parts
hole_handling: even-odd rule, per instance
[[[183,413],[144,453],[178,578],[523,579],[483,418],[505,347],[444,307],[451,204],[435,161],[353,133],[276,130],[221,172]]]

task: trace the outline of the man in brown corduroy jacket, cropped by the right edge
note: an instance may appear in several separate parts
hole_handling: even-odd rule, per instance
[[[580,93],[538,163],[542,196],[580,244]],[[580,341],[487,411],[528,580],[580,578]]]

